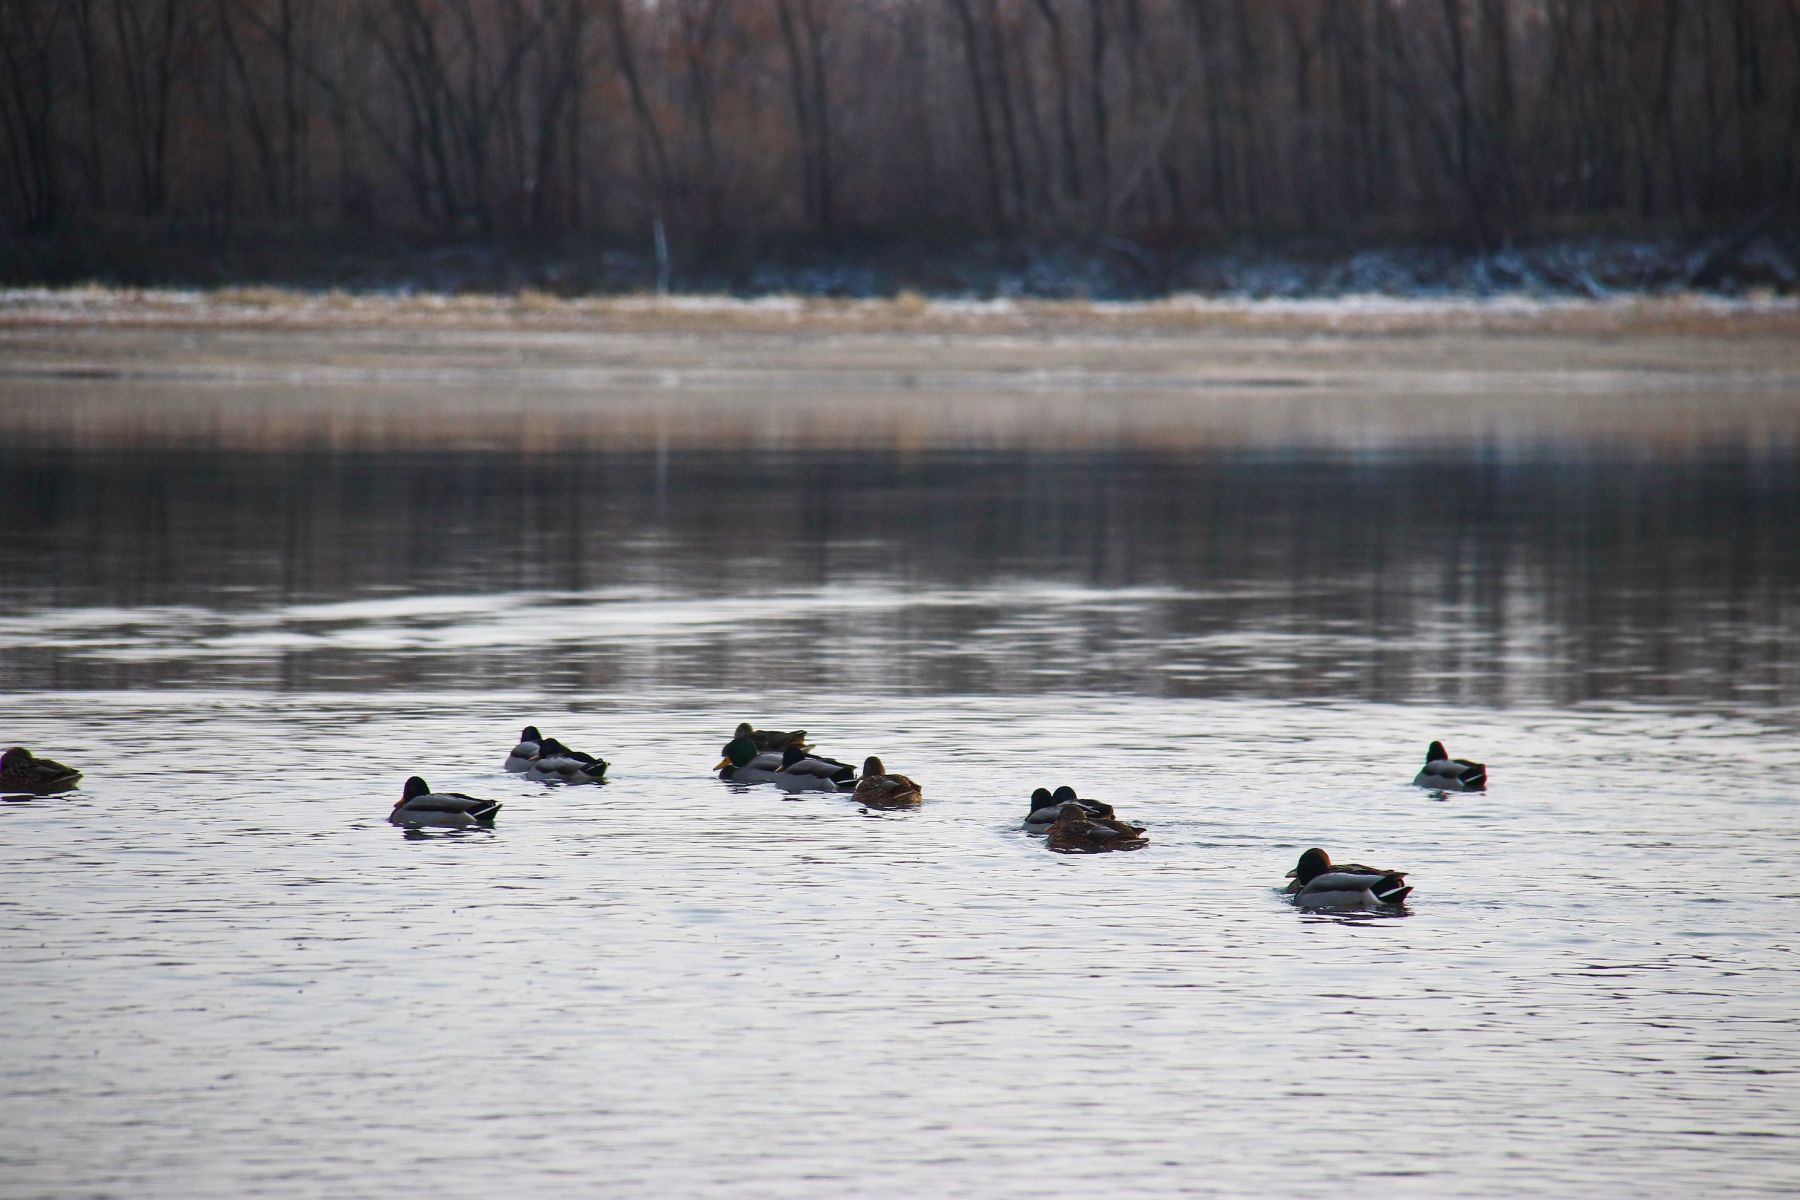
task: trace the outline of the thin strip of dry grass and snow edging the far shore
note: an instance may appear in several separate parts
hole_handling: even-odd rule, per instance
[[[488,293],[358,293],[299,288],[0,288],[0,329],[535,329],[769,333],[1341,333],[1791,336],[1800,297],[1706,293],[1577,297],[1247,299],[1170,295],[1154,300],[882,299],[769,295],[560,297]],[[4,353],[4,347],[0,347]]]

